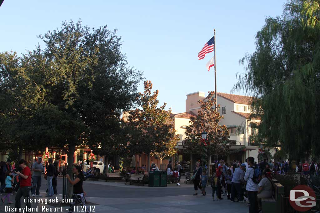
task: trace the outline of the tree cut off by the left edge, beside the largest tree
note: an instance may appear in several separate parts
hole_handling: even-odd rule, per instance
[[[35,114],[44,103],[41,90],[30,78],[30,55],[0,53],[0,147],[21,159],[23,149],[45,147]]]

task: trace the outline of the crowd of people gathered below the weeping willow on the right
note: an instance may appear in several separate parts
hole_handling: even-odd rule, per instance
[[[320,165],[320,164],[319,164]],[[309,165],[305,165],[309,168]],[[206,166],[204,166],[206,168]],[[303,170],[303,165],[301,165]],[[315,167],[317,168],[317,167]],[[267,161],[255,162],[253,157],[248,157],[245,163],[233,160],[229,166],[224,160],[215,162],[211,170],[210,186],[212,187],[213,201],[223,200],[222,196],[227,196],[231,202],[244,202],[250,205],[249,213],[261,211],[261,199],[271,198],[273,196],[272,173],[284,174],[289,171],[288,161]],[[195,193],[198,195],[198,189],[205,196],[208,183],[206,170],[196,162],[192,180]],[[248,201],[244,197],[248,198]]]

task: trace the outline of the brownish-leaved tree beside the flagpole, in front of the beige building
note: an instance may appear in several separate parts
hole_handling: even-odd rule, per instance
[[[217,111],[214,109],[214,92],[209,92],[207,98],[198,101],[200,104],[199,113],[196,117],[190,118],[190,125],[186,127],[186,146],[190,153],[202,156],[202,162],[208,165],[211,163],[212,155],[226,156],[229,152],[229,131],[225,125],[219,125],[223,116],[220,115],[217,105]],[[201,141],[201,133],[207,133],[205,144]],[[210,171],[208,170],[208,174]]]

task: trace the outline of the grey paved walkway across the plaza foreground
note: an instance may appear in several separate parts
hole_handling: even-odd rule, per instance
[[[45,182],[43,182],[44,184]],[[59,183],[58,183],[59,184]],[[193,196],[191,195],[193,185],[181,184],[181,186],[172,187],[148,187],[136,186],[136,185],[124,185],[124,182],[97,182],[97,181],[85,181],[85,191],[87,192],[86,200],[88,202],[88,208],[91,207],[94,212],[104,213],[148,213],[148,212],[166,212],[166,213],[184,213],[184,212],[216,212],[216,213],[229,213],[239,212],[247,213],[249,208],[245,203],[230,202],[224,197],[221,201],[212,201],[211,189],[208,188],[207,196]],[[91,187],[90,187],[91,186]],[[41,186],[40,194],[42,197],[34,198],[48,198],[45,196],[45,191],[42,190],[46,185]],[[93,190],[93,191],[92,191]],[[103,193],[106,197],[99,196],[94,193],[98,191]],[[59,188],[58,188],[59,191]],[[166,191],[175,192],[171,195],[165,193]],[[177,195],[179,192],[188,191],[188,195]],[[139,193],[136,193],[139,192]],[[152,196],[150,196],[152,194]],[[158,194],[158,196],[156,196]],[[121,196],[122,195],[122,196]],[[159,196],[160,195],[160,196]],[[172,196],[173,195],[173,196]],[[1,195],[3,196],[3,195]],[[11,201],[15,202],[15,195],[10,196]],[[50,198],[50,197],[49,197]],[[61,201],[62,195],[57,195],[59,201]],[[25,207],[23,200],[21,199],[22,206]],[[14,204],[2,204],[0,202],[0,213],[10,212],[5,209],[5,206],[13,208]],[[42,207],[44,206],[44,207]],[[64,204],[59,207],[60,204],[38,204],[33,203],[32,207],[38,207],[38,211],[34,212],[68,212],[68,204]],[[56,208],[56,209],[43,209],[43,208]],[[7,211],[5,211],[7,210]],[[81,207],[78,207],[78,211],[81,211]],[[14,211],[11,211],[14,212]],[[93,211],[92,211],[93,212]]]

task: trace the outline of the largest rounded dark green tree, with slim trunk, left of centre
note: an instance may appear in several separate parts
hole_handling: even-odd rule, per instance
[[[71,174],[76,147],[101,143],[122,111],[134,106],[141,73],[127,67],[121,39],[107,26],[70,21],[39,37],[45,48],[38,46],[30,59],[45,100],[38,121],[51,145],[66,147]]]

